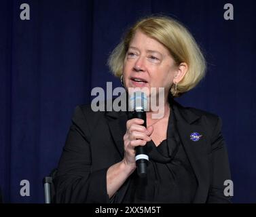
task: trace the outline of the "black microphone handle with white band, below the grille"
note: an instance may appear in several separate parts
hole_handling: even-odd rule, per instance
[[[147,115],[145,111],[136,111],[133,115],[134,118],[143,119],[144,123],[143,126],[147,127]],[[141,178],[144,178],[147,175],[147,163],[149,161],[149,157],[147,155],[147,148],[146,146],[136,146],[136,166],[138,175]]]

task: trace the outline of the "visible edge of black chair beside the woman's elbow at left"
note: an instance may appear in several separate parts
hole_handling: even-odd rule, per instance
[[[43,178],[44,200],[45,203],[54,203],[55,200],[55,188],[54,177],[56,176],[57,169],[52,170],[49,176]]]

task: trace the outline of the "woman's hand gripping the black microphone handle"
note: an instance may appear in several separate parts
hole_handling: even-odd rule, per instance
[[[153,132],[153,127],[144,127],[143,119],[130,119],[126,122],[126,134],[124,134],[124,163],[136,168],[135,147],[144,146],[151,140],[149,137]]]

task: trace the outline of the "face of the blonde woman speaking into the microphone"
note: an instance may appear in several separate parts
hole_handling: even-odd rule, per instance
[[[124,85],[129,87],[164,87],[168,94],[177,66],[170,53],[158,41],[136,31],[124,60]]]

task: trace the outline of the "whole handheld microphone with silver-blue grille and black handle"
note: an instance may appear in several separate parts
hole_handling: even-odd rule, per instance
[[[143,126],[147,127],[147,96],[144,92],[136,91],[130,95],[130,109],[132,111],[132,118],[143,119]],[[147,175],[147,163],[149,156],[147,155],[146,146],[136,146],[135,161],[137,172],[140,177]]]

